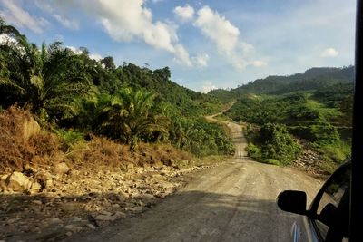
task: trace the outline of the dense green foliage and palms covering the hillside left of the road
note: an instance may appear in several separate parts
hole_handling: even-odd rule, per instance
[[[0,107],[27,106],[67,149],[96,134],[131,150],[143,141],[197,156],[233,152],[221,127],[201,118],[221,102],[172,82],[168,67],[116,66],[112,56],[95,61],[85,47],[78,54],[60,42],[38,48],[1,19],[0,34]]]

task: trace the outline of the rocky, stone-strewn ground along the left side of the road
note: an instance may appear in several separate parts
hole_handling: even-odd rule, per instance
[[[70,169],[60,163],[0,177],[0,241],[56,241],[152,207],[209,166]]]

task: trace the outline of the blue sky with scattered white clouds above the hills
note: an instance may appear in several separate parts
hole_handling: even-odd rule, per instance
[[[198,92],[354,63],[355,0],[0,0],[35,43],[159,69]]]

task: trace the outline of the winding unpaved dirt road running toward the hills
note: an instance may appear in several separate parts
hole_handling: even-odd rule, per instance
[[[212,119],[212,117],[209,117]],[[261,164],[246,157],[240,126],[228,123],[236,155],[204,170],[175,195],[147,212],[75,241],[289,241],[294,215],[275,199],[284,189],[307,191],[320,182],[296,169]]]

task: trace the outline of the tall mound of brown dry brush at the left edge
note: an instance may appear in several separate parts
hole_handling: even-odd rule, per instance
[[[36,124],[29,111],[16,106],[0,113],[0,172],[52,162],[58,140]]]

